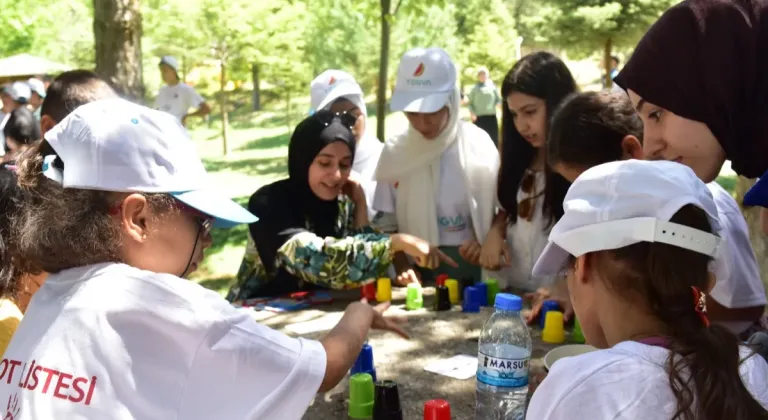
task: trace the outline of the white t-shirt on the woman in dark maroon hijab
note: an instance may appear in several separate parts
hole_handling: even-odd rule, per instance
[[[747,222],[739,205],[717,182],[710,182],[707,187],[717,206],[722,227],[720,235],[727,244],[723,252],[727,253],[725,255],[730,272],[726,278],[716,279],[710,295],[717,303],[727,308],[765,305],[765,288],[760,279],[760,268],[749,241]]]

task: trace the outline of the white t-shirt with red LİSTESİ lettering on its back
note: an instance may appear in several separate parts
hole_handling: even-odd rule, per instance
[[[317,341],[258,324],[167,274],[98,264],[48,277],[0,362],[0,416],[300,419],[325,375]]]

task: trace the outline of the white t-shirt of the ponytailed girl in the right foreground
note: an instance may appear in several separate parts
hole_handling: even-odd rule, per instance
[[[742,349],[742,356],[751,351]],[[558,360],[533,394],[526,418],[670,419],[677,401],[669,384],[663,347],[625,341],[606,350]],[[759,355],[741,364],[741,377],[768,408],[768,364]]]

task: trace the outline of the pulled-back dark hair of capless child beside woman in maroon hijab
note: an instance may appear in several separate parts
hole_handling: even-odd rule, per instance
[[[621,160],[627,135],[642,141],[643,122],[626,94],[582,92],[568,96],[555,110],[547,134],[550,165],[589,169]]]

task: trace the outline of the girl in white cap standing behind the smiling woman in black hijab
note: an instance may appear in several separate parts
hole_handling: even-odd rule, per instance
[[[352,171],[363,186],[368,203],[368,220],[373,221],[376,216],[373,210],[373,195],[376,192],[373,174],[384,144],[376,138],[374,130],[368,127],[368,110],[363,90],[349,73],[326,70],[312,81],[310,94],[312,112],[327,110],[347,113],[357,118],[353,127],[357,144]]]

